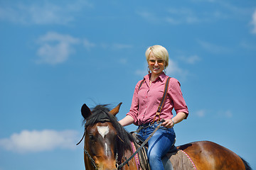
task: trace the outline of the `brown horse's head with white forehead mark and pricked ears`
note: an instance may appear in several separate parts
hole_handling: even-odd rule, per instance
[[[130,148],[129,142],[124,142],[130,141],[129,135],[115,117],[121,104],[112,111],[105,105],[96,106],[92,111],[85,104],[82,106],[81,112],[85,118],[85,169],[117,169],[120,156]]]

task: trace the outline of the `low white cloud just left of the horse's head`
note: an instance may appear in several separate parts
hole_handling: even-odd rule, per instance
[[[43,152],[56,148],[75,149],[78,140],[75,130],[23,130],[9,138],[0,139],[0,147],[13,152]]]

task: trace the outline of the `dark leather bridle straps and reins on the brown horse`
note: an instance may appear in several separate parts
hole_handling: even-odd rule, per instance
[[[97,123],[100,122],[100,123],[105,123],[105,122],[110,122],[109,119],[101,119],[101,120],[98,120]],[[142,145],[137,149],[136,152],[134,152],[131,157],[129,157],[128,159],[125,157],[126,161],[123,162],[122,164],[116,164],[116,167],[117,169],[121,169],[124,165],[128,164],[128,162],[142,149],[142,147],[144,147],[144,145],[146,145],[146,143],[150,140],[150,138],[154,135],[154,133],[159,130],[161,124],[164,122],[164,120],[161,120],[159,121],[159,125],[156,127],[156,129],[151,133],[151,135],[149,135],[148,138],[146,138],[146,140],[142,143]],[[85,138],[85,134],[86,134],[86,128],[87,128],[87,125],[85,124],[85,132],[84,134],[82,135],[82,139],[78,142],[77,145],[80,144],[80,142],[82,142],[83,138]],[[97,166],[96,166],[96,163],[95,163],[95,160],[92,158],[92,156],[90,156],[89,152],[87,151],[86,149],[86,146],[84,147],[84,152],[85,154],[87,155],[87,157],[89,157],[90,159],[90,162],[92,164],[92,166],[94,167],[95,170],[97,170]],[[117,153],[117,152],[116,152]],[[116,162],[117,162],[117,159],[118,159],[118,154],[116,154]],[[129,166],[129,164],[128,164]]]

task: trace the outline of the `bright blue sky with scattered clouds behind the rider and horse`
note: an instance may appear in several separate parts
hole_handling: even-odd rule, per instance
[[[0,170],[85,169],[82,104],[122,102],[124,118],[151,45],[188,106],[176,145],[210,140],[256,169],[255,0],[0,0]]]

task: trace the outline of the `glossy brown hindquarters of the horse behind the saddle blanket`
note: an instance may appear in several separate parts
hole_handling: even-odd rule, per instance
[[[214,142],[192,142],[181,145],[178,149],[191,157],[198,170],[245,170],[245,165],[237,154]]]

